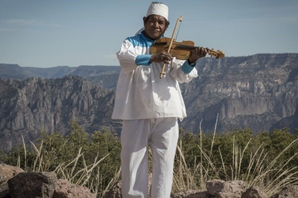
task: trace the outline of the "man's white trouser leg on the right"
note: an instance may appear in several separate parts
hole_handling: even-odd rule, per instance
[[[151,125],[151,198],[169,198],[173,182],[174,158],[179,128],[176,118],[156,118]],[[153,127],[152,127],[153,126]]]

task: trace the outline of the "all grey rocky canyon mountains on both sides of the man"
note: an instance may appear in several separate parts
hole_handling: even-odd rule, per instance
[[[188,114],[179,123],[184,130],[198,133],[200,123],[206,133],[215,126],[218,132],[249,127],[256,133],[298,128],[298,53],[205,57],[196,68],[198,78],[180,85]],[[71,119],[88,132],[119,131],[110,120],[119,72],[119,66],[0,64],[2,148],[19,142],[20,133],[27,139],[42,128],[66,133]]]

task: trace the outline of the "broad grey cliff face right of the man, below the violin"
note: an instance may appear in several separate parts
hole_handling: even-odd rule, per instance
[[[219,131],[268,131],[297,114],[298,54],[201,59],[198,65],[199,77],[182,85],[188,112],[182,126],[194,132],[201,120],[203,131],[214,131],[217,118]],[[298,120],[287,123],[282,127],[298,127]]]

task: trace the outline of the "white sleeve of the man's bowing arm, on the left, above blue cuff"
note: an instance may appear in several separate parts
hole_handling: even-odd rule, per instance
[[[128,40],[124,40],[120,51],[116,55],[124,73],[130,73],[137,68],[135,61],[138,54],[136,54],[134,46]]]

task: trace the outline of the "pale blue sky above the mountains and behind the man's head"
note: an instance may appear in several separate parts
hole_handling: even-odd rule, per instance
[[[123,40],[152,0],[0,0],[0,63],[31,67],[119,65]],[[159,0],[171,37],[226,56],[298,52],[298,0]]]

